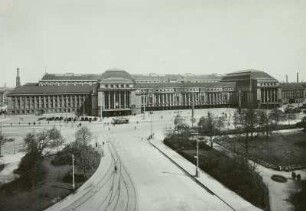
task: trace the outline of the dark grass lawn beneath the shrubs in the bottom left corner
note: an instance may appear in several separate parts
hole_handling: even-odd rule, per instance
[[[62,182],[71,166],[53,166],[51,160],[49,157],[43,161],[46,177],[34,190],[7,193],[0,189],[0,210],[43,210],[71,193],[71,185]]]

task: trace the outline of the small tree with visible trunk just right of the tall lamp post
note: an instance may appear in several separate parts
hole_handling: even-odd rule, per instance
[[[223,122],[216,121],[211,112],[208,112],[207,117],[201,117],[198,126],[201,135],[209,136],[210,147],[213,148],[213,136],[219,131]]]

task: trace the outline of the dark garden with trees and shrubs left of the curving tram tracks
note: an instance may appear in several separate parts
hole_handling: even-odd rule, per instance
[[[75,157],[75,188],[81,186],[99,166],[101,154],[89,143],[86,127],[66,144],[60,131],[52,128],[24,138],[26,155],[14,181],[0,186],[0,210],[44,210],[75,189],[72,188],[72,154]],[[57,152],[57,153],[56,153]]]

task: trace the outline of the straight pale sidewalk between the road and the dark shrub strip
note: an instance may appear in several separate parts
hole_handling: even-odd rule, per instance
[[[163,135],[155,134],[155,139],[151,140],[150,143],[159,149],[162,153],[168,156],[172,162],[180,166],[190,175],[195,175],[196,166],[186,160],[184,157],[176,153],[174,150],[170,149],[166,145],[163,144]],[[200,176],[198,178],[193,177],[200,185],[207,187],[208,191],[212,191],[215,195],[221,198],[225,203],[230,205],[234,210],[243,211],[243,210],[254,210],[259,211],[258,207],[252,205],[241,196],[236,194],[235,192],[229,190],[223,184],[218,182],[216,179],[208,175],[206,172],[200,171]]]

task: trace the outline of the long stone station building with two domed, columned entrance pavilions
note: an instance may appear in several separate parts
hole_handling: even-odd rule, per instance
[[[141,75],[111,69],[102,74],[45,74],[9,94],[12,114],[74,112],[120,116],[153,110],[208,107],[273,108],[282,87],[263,71],[220,75]]]

